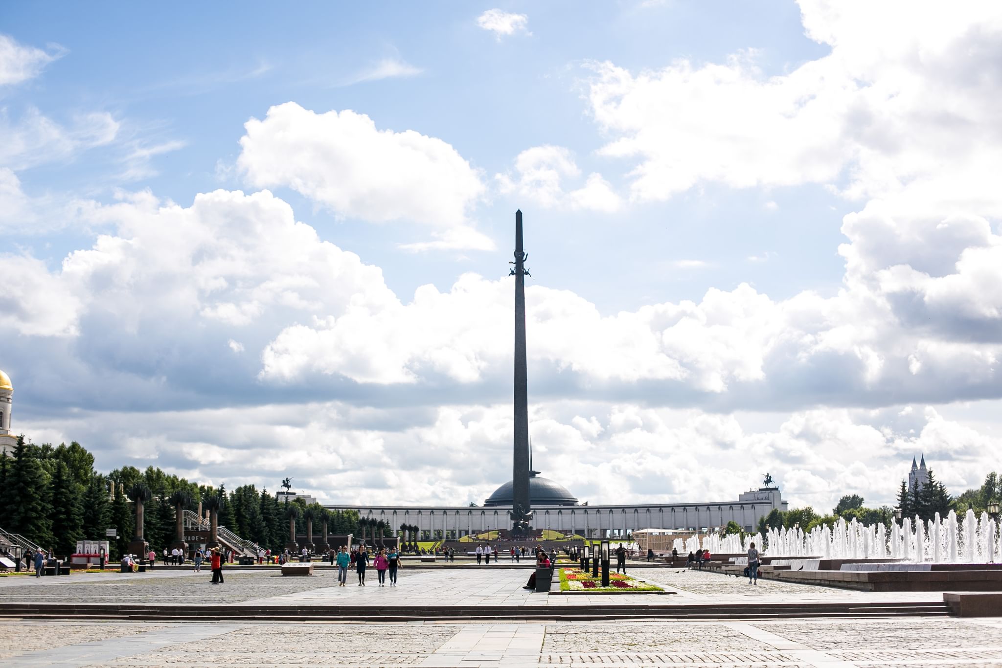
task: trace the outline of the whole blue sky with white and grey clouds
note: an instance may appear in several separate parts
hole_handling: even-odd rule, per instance
[[[997,2],[0,7],[13,429],[330,504],[891,504],[1002,448]]]

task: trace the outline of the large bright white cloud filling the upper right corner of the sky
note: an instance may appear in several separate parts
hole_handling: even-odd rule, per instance
[[[1002,6],[801,8],[808,35],[832,50],[786,74],[765,74],[755,51],[638,73],[593,66],[592,112],[614,137],[602,153],[638,160],[634,198],[665,199],[701,181],[834,183],[854,197],[929,177],[967,180],[958,193],[987,184],[999,167],[989,147],[999,139]],[[958,161],[971,168],[943,169]]]

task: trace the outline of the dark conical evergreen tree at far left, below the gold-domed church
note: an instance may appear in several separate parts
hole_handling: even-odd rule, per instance
[[[9,499],[14,503],[8,514],[10,526],[5,529],[48,549],[52,546],[49,490],[42,466],[32,449],[33,446],[25,444],[23,436],[18,437],[7,475]]]

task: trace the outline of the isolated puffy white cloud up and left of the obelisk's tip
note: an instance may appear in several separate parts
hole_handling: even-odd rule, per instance
[[[379,130],[365,114],[318,114],[294,102],[244,127],[237,166],[258,187],[291,187],[339,215],[415,222],[451,231],[453,239],[474,238],[457,230],[469,227],[468,211],[486,188],[479,172],[441,139]]]

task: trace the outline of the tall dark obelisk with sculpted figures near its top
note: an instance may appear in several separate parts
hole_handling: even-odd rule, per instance
[[[522,211],[515,211],[515,429],[512,458],[512,503],[508,516],[512,531],[525,534],[532,529],[532,503],[529,499],[529,390],[525,360],[525,268],[528,255],[522,249]]]

